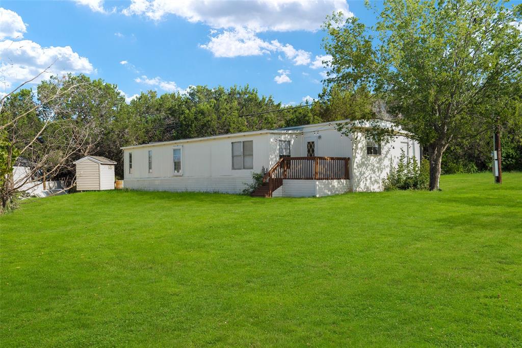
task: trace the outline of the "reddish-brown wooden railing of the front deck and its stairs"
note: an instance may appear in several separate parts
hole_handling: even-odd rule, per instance
[[[281,187],[283,179],[350,179],[350,158],[283,157],[263,177],[263,182],[268,181],[270,197],[275,190]]]

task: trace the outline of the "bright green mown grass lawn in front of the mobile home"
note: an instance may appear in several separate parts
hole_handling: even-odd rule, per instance
[[[2,346],[521,346],[522,173],[441,192],[85,192],[0,217]]]

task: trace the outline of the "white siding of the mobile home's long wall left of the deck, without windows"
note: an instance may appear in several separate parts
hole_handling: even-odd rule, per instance
[[[124,187],[139,190],[202,191],[240,193],[252,182],[252,172],[269,165],[269,134],[215,138],[189,143],[167,143],[124,149]],[[254,168],[232,169],[232,142],[253,141]],[[173,147],[182,147],[183,175],[174,175]],[[152,173],[148,173],[148,151],[152,150]],[[128,173],[128,153],[133,154],[133,172]]]

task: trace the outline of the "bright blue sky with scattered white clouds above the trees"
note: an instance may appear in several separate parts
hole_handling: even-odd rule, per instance
[[[316,97],[325,16],[341,10],[373,24],[362,1],[5,1],[0,5],[0,92],[50,62],[127,98],[148,89],[250,85],[285,104]],[[35,81],[35,83],[38,82]]]

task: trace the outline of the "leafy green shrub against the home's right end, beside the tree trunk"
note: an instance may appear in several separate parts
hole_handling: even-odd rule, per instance
[[[430,166],[428,161],[417,159],[406,159],[404,151],[401,151],[397,168],[392,167],[383,180],[385,191],[393,190],[427,190],[430,183]]]

